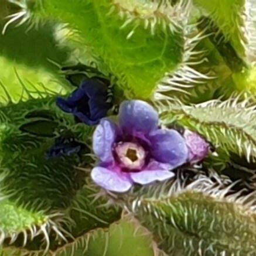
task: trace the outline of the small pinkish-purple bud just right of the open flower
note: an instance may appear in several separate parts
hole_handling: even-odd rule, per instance
[[[211,145],[196,132],[185,130],[183,134],[189,148],[189,162],[197,163],[206,158],[211,152]]]

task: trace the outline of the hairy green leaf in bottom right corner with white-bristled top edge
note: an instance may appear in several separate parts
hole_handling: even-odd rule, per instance
[[[247,255],[256,250],[254,195],[230,192],[201,176],[152,187],[129,206],[168,255]]]

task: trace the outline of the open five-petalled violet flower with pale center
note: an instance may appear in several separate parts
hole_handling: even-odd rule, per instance
[[[158,113],[144,101],[124,101],[119,125],[100,121],[93,135],[93,150],[100,159],[91,172],[104,189],[126,192],[133,183],[145,185],[170,179],[170,172],[188,158],[185,139],[174,129],[158,128]]]

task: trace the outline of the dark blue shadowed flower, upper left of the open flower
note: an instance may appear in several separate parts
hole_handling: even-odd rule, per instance
[[[64,112],[72,113],[79,121],[95,125],[107,115],[107,85],[102,80],[84,80],[67,99],[57,98],[56,103]]]

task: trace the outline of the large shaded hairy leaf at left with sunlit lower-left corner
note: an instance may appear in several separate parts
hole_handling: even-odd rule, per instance
[[[94,200],[99,192],[89,185],[94,162],[89,148],[47,157],[59,136],[90,145],[93,129],[76,124],[73,115],[56,107],[55,98],[9,104],[0,108],[0,121],[0,238],[6,238],[5,246],[11,239],[29,251],[55,250],[120,219],[118,207],[104,207],[104,198]]]

